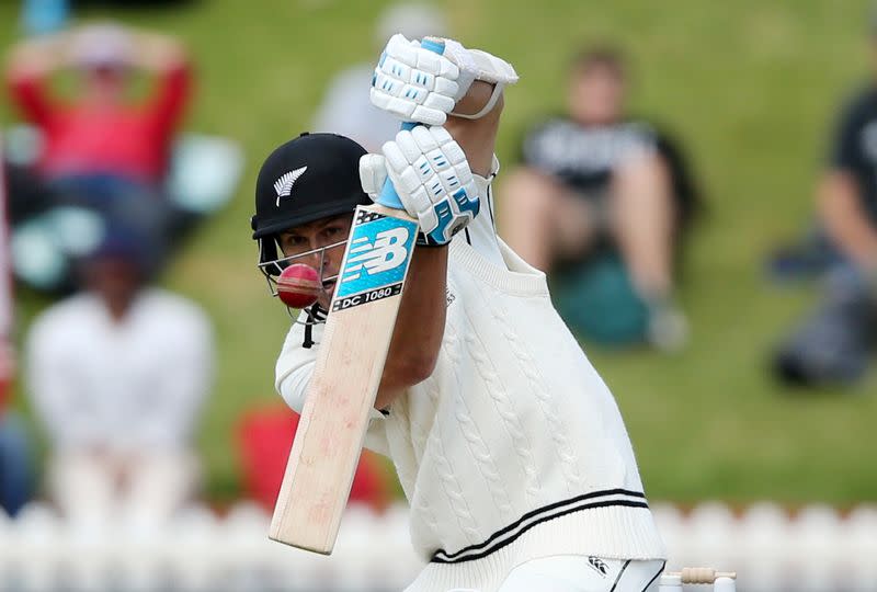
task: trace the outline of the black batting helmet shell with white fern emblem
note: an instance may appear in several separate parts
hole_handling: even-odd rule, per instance
[[[250,226],[259,242],[259,267],[269,278],[285,266],[278,257],[280,232],[372,203],[360,184],[364,153],[365,148],[344,136],[301,134],[265,159],[255,181]]]

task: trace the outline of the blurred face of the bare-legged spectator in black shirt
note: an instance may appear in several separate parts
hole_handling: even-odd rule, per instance
[[[578,68],[570,82],[570,114],[583,124],[617,122],[624,111],[625,83],[620,72],[608,65]]]

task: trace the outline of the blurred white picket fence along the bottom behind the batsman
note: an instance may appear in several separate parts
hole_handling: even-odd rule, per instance
[[[789,515],[768,503],[741,514],[657,504],[654,514],[669,568],[733,570],[742,592],[877,592],[877,506]],[[0,591],[399,591],[421,567],[401,505],[380,515],[352,509],[330,557],[267,540],[267,522],[249,503],[221,517],[192,508],[161,530],[69,524],[33,504],[14,521],[0,515]]]

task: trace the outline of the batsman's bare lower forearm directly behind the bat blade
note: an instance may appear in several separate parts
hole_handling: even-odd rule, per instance
[[[447,247],[414,251],[375,408],[432,375],[445,330]]]

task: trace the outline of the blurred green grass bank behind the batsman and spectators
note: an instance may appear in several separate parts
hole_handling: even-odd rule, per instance
[[[15,38],[18,7],[11,4],[18,3],[0,3],[0,47]],[[307,128],[338,69],[376,57],[372,23],[383,5],[203,0],[113,13],[185,39],[200,76],[187,128],[236,138],[247,153],[232,205],[202,228],[163,277],[201,301],[216,323],[218,376],[200,440],[214,498],[237,491],[235,421],[243,409],[275,400],[273,364],[288,327],[253,265],[248,219],[257,168],[275,145]],[[807,224],[834,105],[868,73],[868,3],[443,5],[464,43],[508,57],[521,73],[508,93],[500,137],[506,167],[524,125],[561,105],[569,54],[606,39],[635,65],[634,110],[667,125],[692,156],[708,203],[682,292],[693,325],[690,346],[667,357],[585,345],[616,394],[650,497],[793,504],[877,498],[867,456],[877,446],[877,383],[872,376],[851,392],[777,390],[764,372],[765,354],[812,295],[804,286],[772,288],[761,273],[764,254]],[[9,105],[2,110],[8,114]],[[21,304],[23,333],[45,303],[27,295]]]

